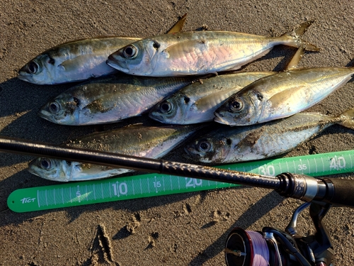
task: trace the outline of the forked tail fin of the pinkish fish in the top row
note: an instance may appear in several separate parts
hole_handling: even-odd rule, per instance
[[[314,21],[306,21],[302,23],[299,28],[296,28],[293,31],[290,31],[289,33],[285,33],[278,37],[281,41],[282,44],[288,45],[291,47],[296,47],[299,48],[300,46],[304,45],[305,50],[307,51],[312,51],[312,52],[319,52],[320,48],[316,47],[316,45],[313,45],[306,40],[302,40],[302,35],[307,31],[307,28],[311,26],[311,24],[314,23]]]

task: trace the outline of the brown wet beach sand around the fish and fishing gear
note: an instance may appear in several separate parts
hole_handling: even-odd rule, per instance
[[[94,126],[58,126],[37,116],[72,85],[38,86],[16,78],[30,59],[52,46],[97,35],[147,37],[166,32],[188,13],[185,30],[280,35],[315,19],[305,38],[321,47],[303,67],[353,66],[353,4],[348,1],[2,1],[0,9],[0,135],[62,143]],[[245,71],[282,70],[295,50],[280,46]],[[338,115],[354,107],[354,84],[312,107]],[[147,121],[146,116],[120,123]],[[110,126],[104,126],[107,129]],[[353,131],[332,126],[286,156],[351,150]],[[159,196],[18,214],[6,205],[16,189],[55,184],[26,171],[33,157],[0,154],[0,265],[224,265],[224,243],[235,226],[285,228],[301,204],[267,189],[236,189]],[[173,155],[169,157],[173,160]],[[354,174],[336,177],[353,179]],[[324,223],[335,265],[352,265],[354,211],[332,208]],[[314,233],[307,211],[299,233]]]

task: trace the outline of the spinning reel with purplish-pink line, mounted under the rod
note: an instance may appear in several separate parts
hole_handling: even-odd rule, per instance
[[[314,235],[297,234],[297,218],[309,206],[316,228]],[[330,266],[333,246],[329,233],[321,222],[331,204],[319,201],[299,206],[282,231],[264,227],[262,231],[245,231],[234,228],[227,237],[225,260],[228,266]]]

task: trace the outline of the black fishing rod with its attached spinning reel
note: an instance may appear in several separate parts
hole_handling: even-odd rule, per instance
[[[325,226],[321,223],[332,205],[354,207],[354,180],[313,178],[304,174],[282,173],[275,177],[181,162],[155,160],[82,148],[69,148],[18,138],[0,138],[0,150],[40,157],[123,167],[132,170],[198,177],[216,182],[250,185],[275,189],[282,196],[306,201],[294,212],[285,231],[265,227],[261,232],[234,228],[227,238],[227,265],[316,265],[331,264],[333,247]],[[297,217],[309,206],[316,228],[314,235],[303,237],[297,233]]]

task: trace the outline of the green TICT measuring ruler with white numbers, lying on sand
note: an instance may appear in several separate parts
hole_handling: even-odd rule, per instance
[[[292,172],[317,177],[354,172],[353,160],[354,150],[348,150],[275,160],[241,162],[234,165],[223,165],[219,168],[269,176]],[[132,177],[115,177],[17,189],[8,196],[7,204],[8,208],[16,212],[41,211],[235,186],[237,185],[167,174],[141,174]]]

